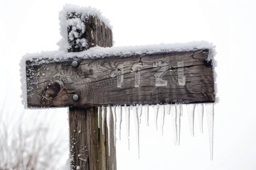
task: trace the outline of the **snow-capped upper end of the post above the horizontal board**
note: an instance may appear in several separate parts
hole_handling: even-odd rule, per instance
[[[95,45],[103,47],[105,45],[102,43],[105,42],[102,42],[99,38],[105,36],[105,33],[108,36],[107,41],[111,41],[112,44],[110,21],[102,16],[102,13],[96,8],[67,4],[60,11],[59,18],[62,39],[58,42],[58,45],[62,51],[79,52]],[[98,23],[98,25],[95,25],[95,23]],[[88,41],[90,44],[88,44]]]

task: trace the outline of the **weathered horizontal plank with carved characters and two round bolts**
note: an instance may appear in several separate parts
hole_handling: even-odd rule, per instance
[[[207,57],[208,50],[202,49],[39,65],[29,61],[28,107],[214,102],[213,68]],[[73,60],[78,67],[71,66]],[[73,101],[74,94],[79,101]]]

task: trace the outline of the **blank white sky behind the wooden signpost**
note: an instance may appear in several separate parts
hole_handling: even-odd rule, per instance
[[[50,128],[53,134],[63,134],[68,147],[66,109],[23,113],[18,70],[19,61],[27,52],[58,50],[58,12],[66,3],[100,9],[113,26],[115,46],[193,40],[208,40],[216,45],[220,102],[215,105],[214,161],[209,158],[206,125],[201,135],[196,122],[196,136],[191,137],[184,114],[180,147],[174,146],[169,117],[164,137],[154,130],[153,122],[150,128],[142,123],[141,159],[137,159],[136,145],[127,150],[124,130],[123,140],[117,145],[119,169],[256,169],[256,3],[252,0],[1,1],[0,107],[4,112],[0,118],[13,121],[25,114],[25,126],[38,116],[45,118],[46,124],[57,123]],[[67,157],[64,155],[62,164]]]

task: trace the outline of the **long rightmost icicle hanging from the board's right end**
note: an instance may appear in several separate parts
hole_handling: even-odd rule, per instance
[[[206,104],[206,118],[207,118],[208,133],[209,133],[209,140],[210,140],[210,160],[213,160],[213,118],[214,118],[213,103]]]

